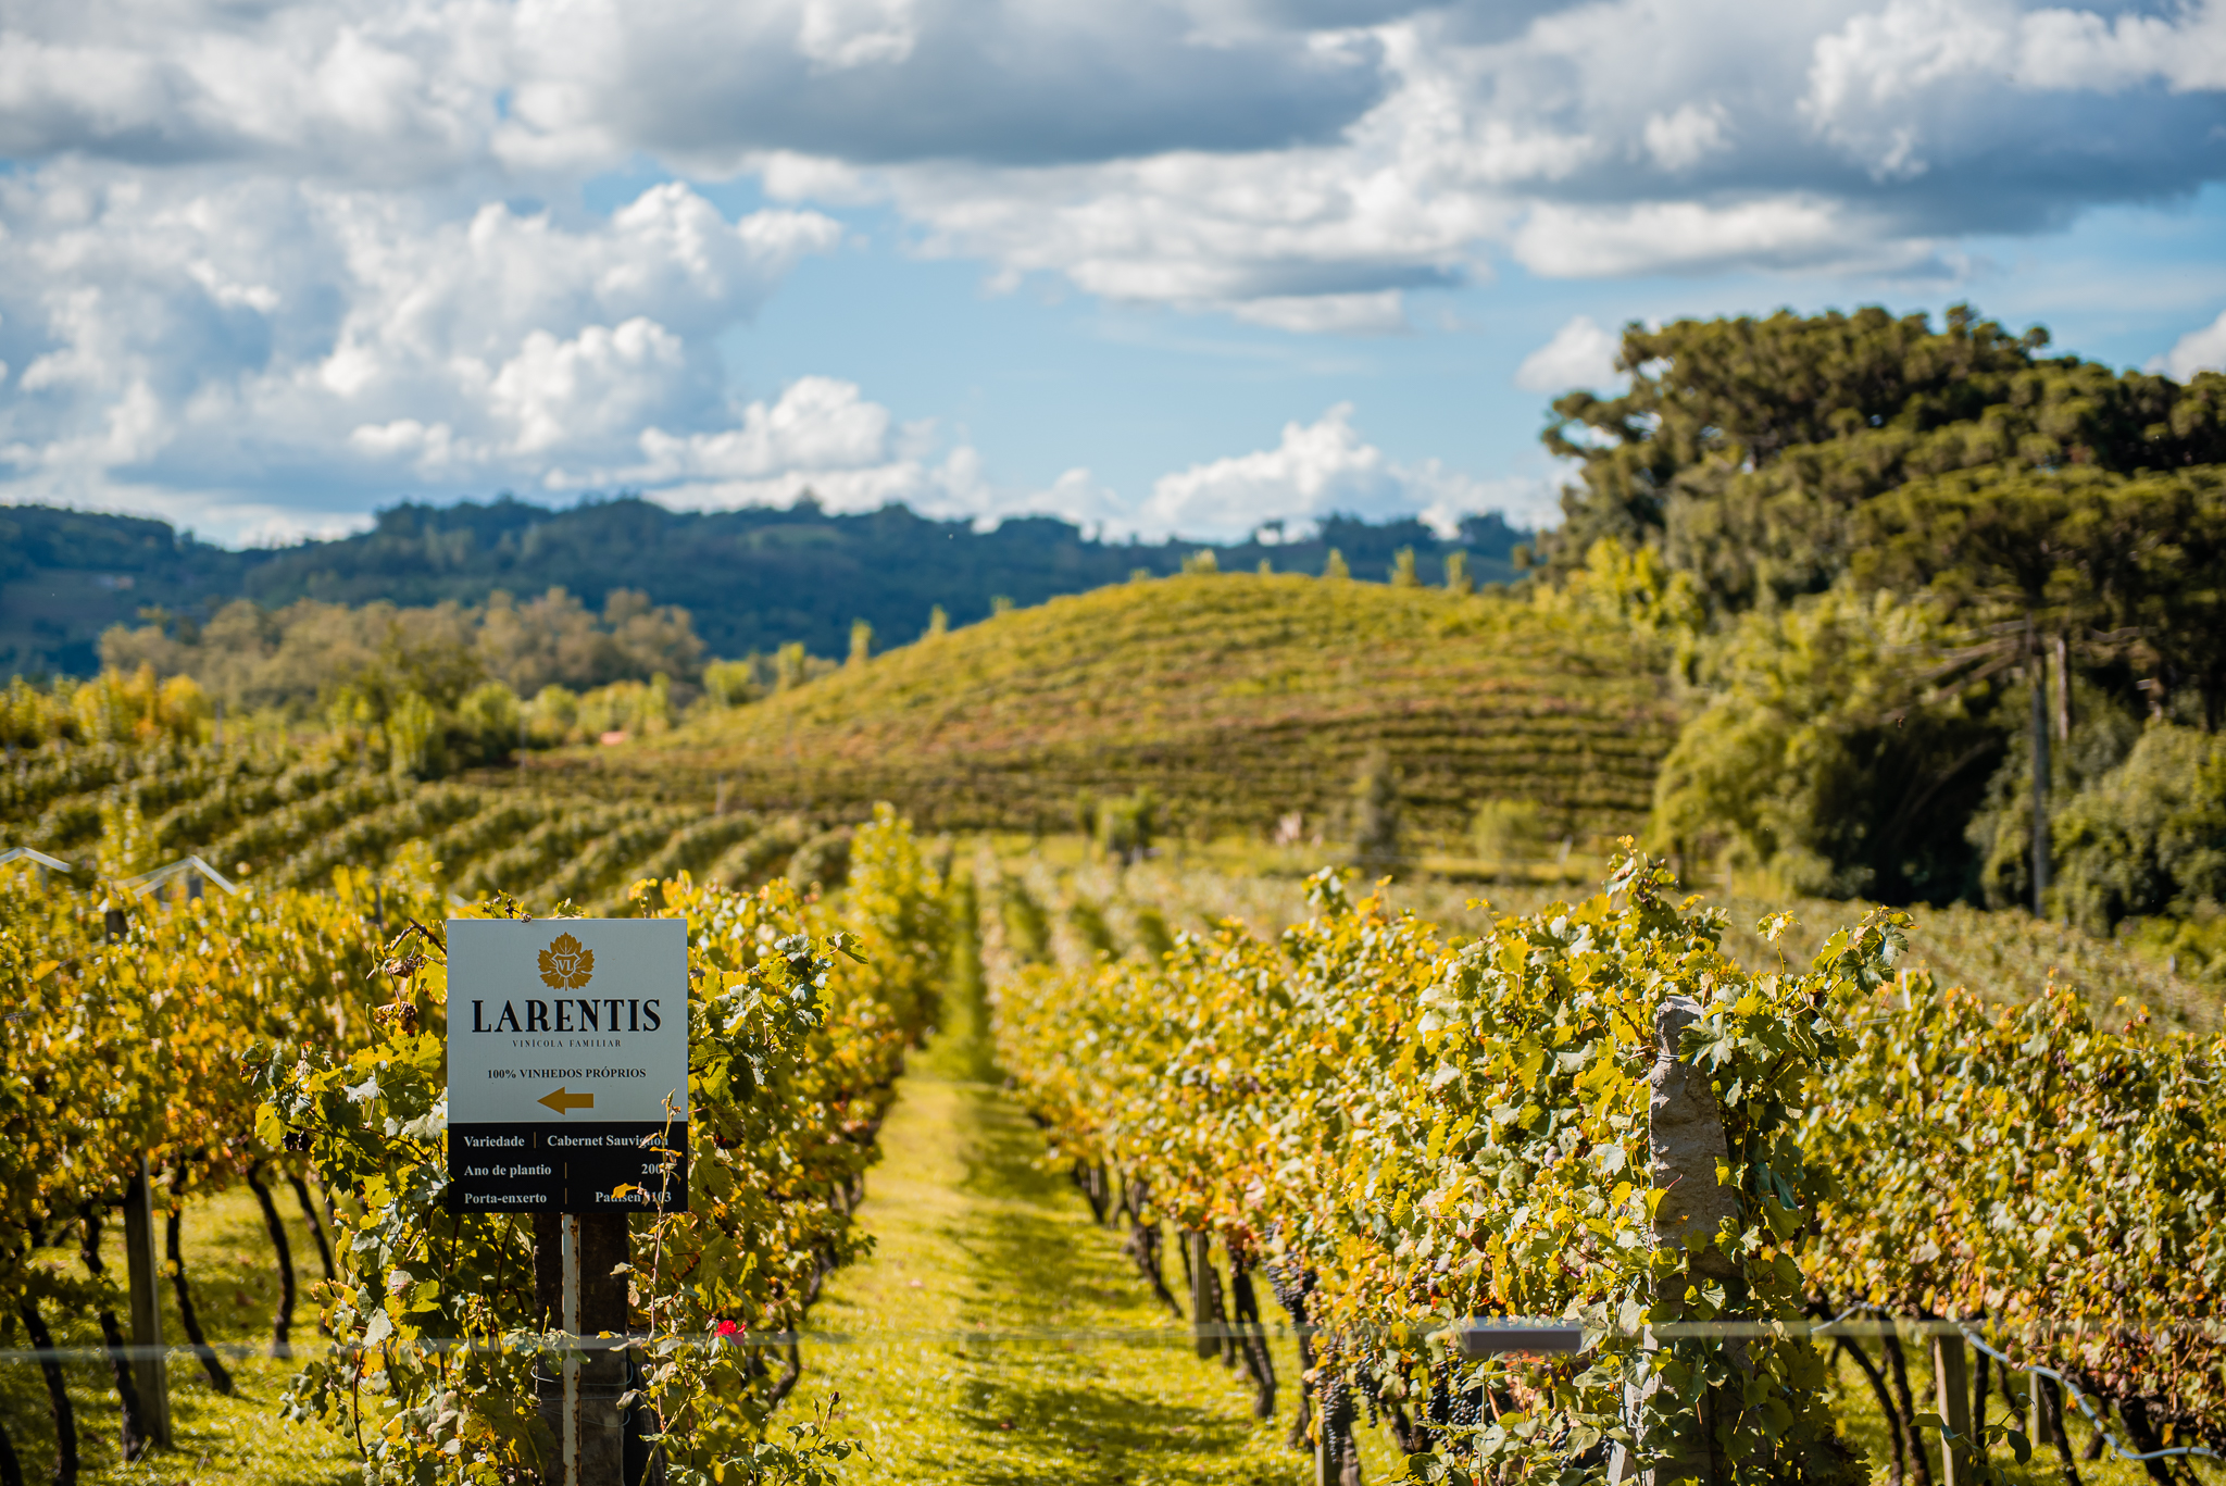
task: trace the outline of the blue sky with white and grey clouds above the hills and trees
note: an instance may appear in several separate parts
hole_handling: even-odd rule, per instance
[[[11,0],[0,504],[1554,519],[1632,321],[2226,368],[2226,0]]]

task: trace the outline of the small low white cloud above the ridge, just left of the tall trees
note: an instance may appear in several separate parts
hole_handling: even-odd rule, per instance
[[[1476,510],[1538,504],[1534,481],[1478,481],[1436,459],[1407,466],[1367,443],[1353,405],[1338,403],[1313,423],[1284,423],[1271,450],[1233,454],[1153,481],[1131,517],[1144,535],[1242,537],[1262,521],[1316,521],[1327,515],[1422,517],[1440,532]]]

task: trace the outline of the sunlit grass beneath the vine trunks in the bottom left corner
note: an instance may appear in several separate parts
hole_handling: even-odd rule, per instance
[[[316,1243],[301,1216],[294,1192],[274,1185],[278,1212],[294,1245],[301,1303],[294,1312],[294,1341],[316,1346],[316,1303],[312,1281],[323,1279]],[[156,1214],[160,1243],[160,1212]],[[82,1274],[78,1230],[51,1234],[67,1248],[42,1250],[40,1261]],[[100,1357],[100,1330],[85,1317],[69,1323],[58,1308],[47,1306],[47,1323],[62,1348],[78,1355],[65,1363],[71,1406],[78,1415],[78,1448],[85,1482],[118,1486],[185,1486],[189,1482],[227,1486],[358,1486],[361,1457],[354,1444],[334,1439],[316,1426],[287,1424],[278,1417],[278,1397],[294,1363],[267,1357],[269,1326],[278,1310],[278,1270],[272,1259],[263,1214],[247,1190],[194,1201],[185,1212],[185,1265],[194,1285],[194,1308],[209,1341],[223,1348],[232,1370],[232,1397],[218,1395],[200,1363],[183,1348],[169,1281],[160,1285],[162,1337],[169,1341],[169,1450],[149,1450],[125,1464],[118,1448],[120,1410]],[[100,1254],[118,1285],[125,1283],[122,1223],[102,1223]],[[118,1317],[129,1317],[118,1299]],[[4,1421],[27,1482],[45,1482],[53,1468],[53,1415],[40,1368],[24,1355],[22,1328],[7,1337],[7,1366],[0,1366],[0,1421]],[[249,1355],[240,1357],[245,1348]]]

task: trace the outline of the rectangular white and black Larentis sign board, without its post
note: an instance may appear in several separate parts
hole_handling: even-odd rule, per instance
[[[688,1208],[688,925],[447,920],[456,1212]]]

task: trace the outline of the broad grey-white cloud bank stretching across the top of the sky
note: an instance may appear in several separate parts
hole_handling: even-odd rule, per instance
[[[22,0],[0,27],[22,160],[483,203],[648,156],[884,198],[1004,283],[1340,334],[1498,252],[1905,267],[1932,223],[2190,189],[2219,89],[2226,0]]]

